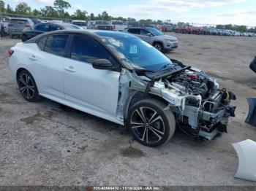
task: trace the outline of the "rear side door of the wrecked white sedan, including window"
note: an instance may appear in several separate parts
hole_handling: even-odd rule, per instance
[[[44,36],[37,42],[37,50],[31,52],[39,93],[64,98],[63,66],[68,34]]]

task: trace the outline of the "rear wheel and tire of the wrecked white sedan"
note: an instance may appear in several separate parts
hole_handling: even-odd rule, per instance
[[[36,82],[29,71],[20,71],[17,82],[20,93],[26,101],[36,102],[40,100],[41,96],[38,93]]]

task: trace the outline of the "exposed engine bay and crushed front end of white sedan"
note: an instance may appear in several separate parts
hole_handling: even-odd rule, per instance
[[[227,133],[228,118],[234,117],[236,110],[230,101],[236,96],[220,89],[216,79],[182,63],[163,74],[137,74],[146,82],[145,96],[157,95],[167,101],[177,126],[189,136],[211,140]]]

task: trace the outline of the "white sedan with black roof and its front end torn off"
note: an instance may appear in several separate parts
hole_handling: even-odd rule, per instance
[[[27,101],[45,97],[125,125],[156,147],[181,128],[211,140],[227,132],[236,96],[214,78],[170,60],[136,36],[54,31],[9,51],[12,78]]]

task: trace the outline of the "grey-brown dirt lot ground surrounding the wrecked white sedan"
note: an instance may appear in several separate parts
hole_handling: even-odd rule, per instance
[[[43,99],[26,102],[7,69],[7,50],[19,39],[0,39],[1,185],[256,185],[234,179],[232,143],[252,139],[244,123],[246,97],[256,96],[248,66],[256,38],[173,34],[179,48],[168,55],[203,69],[236,93],[228,133],[197,142],[181,132],[159,148],[143,147],[127,130]]]

